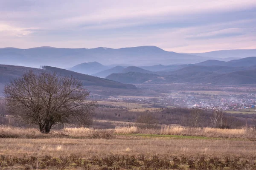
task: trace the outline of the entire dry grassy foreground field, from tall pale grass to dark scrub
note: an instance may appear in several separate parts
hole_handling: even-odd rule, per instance
[[[0,168],[6,170],[256,168],[252,129],[66,128],[41,134],[33,128],[1,126],[0,137]]]

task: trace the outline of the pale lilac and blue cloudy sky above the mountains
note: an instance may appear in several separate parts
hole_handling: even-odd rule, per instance
[[[0,48],[256,48],[256,0],[0,0]]]

